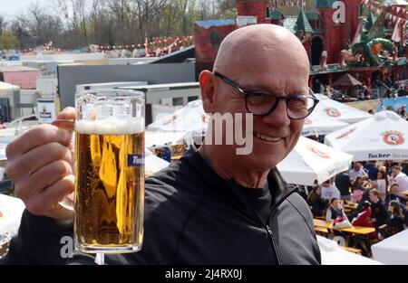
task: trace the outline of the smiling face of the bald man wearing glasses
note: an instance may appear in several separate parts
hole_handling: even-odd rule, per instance
[[[296,94],[308,94],[307,68],[294,58],[276,53],[264,52],[251,54],[248,64],[240,63],[224,75],[237,82],[244,90],[263,90],[279,97]],[[218,80],[216,85],[218,112],[248,113],[245,97],[237,90]],[[222,150],[234,155],[234,162],[247,166],[253,171],[265,171],[276,166],[296,146],[302,127],[302,120],[287,117],[287,104],[280,100],[270,114],[264,117],[254,116],[253,150],[248,156],[237,156],[237,146],[224,146]],[[245,116],[243,118],[245,121]],[[245,122],[243,122],[245,125]]]

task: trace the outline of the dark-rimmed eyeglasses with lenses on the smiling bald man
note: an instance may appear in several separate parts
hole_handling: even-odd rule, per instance
[[[238,83],[228,79],[218,71],[215,71],[214,74],[245,96],[245,106],[248,112],[255,116],[269,115],[277,108],[279,100],[285,100],[287,103],[287,117],[291,119],[303,119],[312,113],[319,102],[319,99],[316,99],[315,94],[310,89],[308,95],[296,94],[288,98],[280,98],[264,90],[243,90]]]

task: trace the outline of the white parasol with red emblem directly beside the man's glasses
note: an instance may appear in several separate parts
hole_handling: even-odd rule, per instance
[[[335,118],[336,120],[353,124],[360,122],[365,118],[373,117],[373,115],[367,112],[353,108],[344,103],[337,102],[333,99],[329,99],[325,95],[316,94],[316,97],[320,101],[317,103],[315,110],[310,115],[312,118]]]

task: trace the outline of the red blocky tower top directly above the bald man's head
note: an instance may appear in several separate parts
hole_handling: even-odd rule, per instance
[[[238,0],[238,16],[257,16],[257,24],[270,24],[269,1]]]

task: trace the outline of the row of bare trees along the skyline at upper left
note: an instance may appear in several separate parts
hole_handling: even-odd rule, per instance
[[[90,43],[131,45],[145,38],[193,33],[197,20],[226,17],[235,0],[53,0],[29,6],[8,23],[22,46],[53,41],[62,48]],[[233,15],[233,14],[232,14]],[[7,22],[0,16],[0,31]]]

